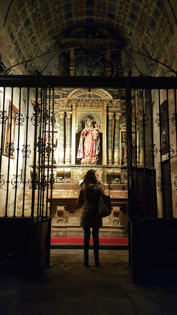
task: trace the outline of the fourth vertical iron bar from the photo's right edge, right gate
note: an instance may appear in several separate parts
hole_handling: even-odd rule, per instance
[[[153,136],[153,103],[152,103],[152,90],[151,90],[151,146],[152,146],[152,183],[153,183],[153,203],[154,203],[154,218],[156,218],[156,181],[154,170],[154,136]]]

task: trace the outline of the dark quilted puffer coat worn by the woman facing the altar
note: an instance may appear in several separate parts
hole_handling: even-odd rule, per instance
[[[99,186],[100,185],[100,186]],[[102,218],[98,215],[99,209],[99,189],[101,188],[104,193],[101,184],[89,184],[86,186],[83,184],[77,202],[83,204],[81,212],[80,226],[82,227],[101,227]]]

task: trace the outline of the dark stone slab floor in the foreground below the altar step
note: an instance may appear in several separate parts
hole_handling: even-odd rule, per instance
[[[177,315],[177,286],[136,285],[128,250],[52,249],[50,268],[27,281],[0,273],[0,315]]]

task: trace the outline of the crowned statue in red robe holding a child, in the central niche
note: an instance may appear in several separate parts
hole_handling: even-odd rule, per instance
[[[100,152],[99,129],[97,123],[93,128],[92,122],[88,120],[86,128],[82,130],[77,151],[77,159],[81,164],[96,164]]]

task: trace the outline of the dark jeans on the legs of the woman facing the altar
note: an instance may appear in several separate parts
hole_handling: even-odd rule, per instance
[[[90,242],[90,227],[84,227],[84,241],[83,241],[83,249],[84,249],[84,260],[88,260],[88,249]],[[92,236],[94,241],[94,259],[98,261],[99,259],[99,227],[92,228]]]

